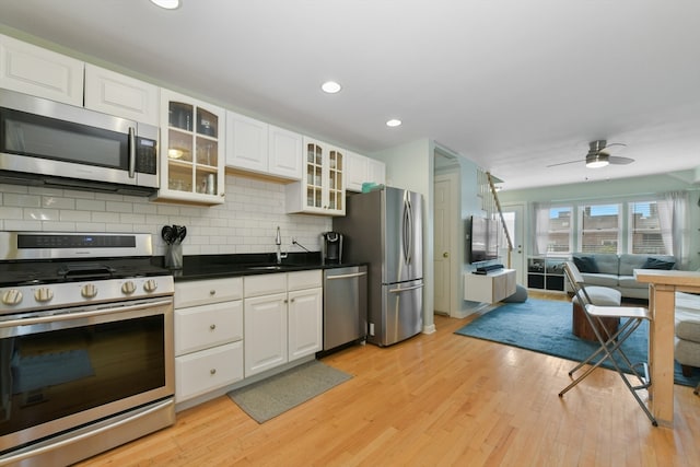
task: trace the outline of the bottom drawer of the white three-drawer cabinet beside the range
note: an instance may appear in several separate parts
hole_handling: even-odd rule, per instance
[[[243,380],[243,342],[175,358],[175,401]]]

